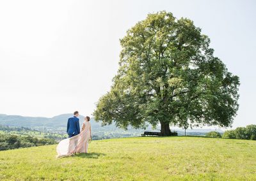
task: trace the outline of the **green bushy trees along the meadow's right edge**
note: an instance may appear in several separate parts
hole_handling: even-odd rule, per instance
[[[211,131],[207,133],[206,136],[212,138],[256,140],[256,125],[251,124],[246,127],[237,127],[236,129],[227,130],[222,136],[216,131]]]

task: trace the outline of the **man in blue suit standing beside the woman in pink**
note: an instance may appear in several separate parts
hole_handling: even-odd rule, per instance
[[[80,133],[80,126],[79,126],[79,113],[74,112],[74,116],[68,118],[68,125],[67,125],[67,133],[68,138],[71,138],[72,136],[76,136]]]

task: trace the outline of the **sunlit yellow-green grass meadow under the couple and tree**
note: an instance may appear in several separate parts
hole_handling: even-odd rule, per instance
[[[92,141],[56,159],[56,145],[0,152],[0,180],[256,180],[256,141],[143,137]]]

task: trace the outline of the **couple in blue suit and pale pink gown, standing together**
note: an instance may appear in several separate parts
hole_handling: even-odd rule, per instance
[[[90,117],[84,117],[83,127],[80,131],[79,112],[74,112],[74,116],[68,119],[68,138],[61,140],[56,151],[57,157],[70,156],[76,153],[87,153],[88,142],[92,140],[92,129]]]

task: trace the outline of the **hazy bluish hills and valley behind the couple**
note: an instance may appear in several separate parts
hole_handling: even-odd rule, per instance
[[[29,127],[45,133],[57,133],[58,135],[66,135],[67,120],[68,117],[72,117],[70,113],[57,115],[51,118],[47,117],[22,117],[20,115],[5,115],[0,114],[0,126],[10,127]],[[79,122],[82,126],[84,116],[79,116]],[[108,139],[108,138],[121,138],[130,136],[140,136],[143,133],[143,129],[132,129],[128,127],[128,130],[120,129],[111,124],[108,126],[101,126],[101,122],[96,122],[93,118],[90,120],[92,124],[92,133],[94,140]],[[152,131],[149,126],[148,131]],[[159,130],[155,130],[159,131]]]

